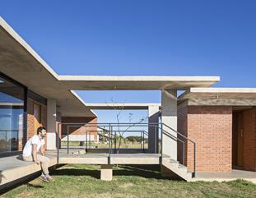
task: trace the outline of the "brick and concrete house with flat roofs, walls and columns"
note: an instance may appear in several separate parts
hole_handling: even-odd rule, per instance
[[[212,88],[218,81],[218,76],[59,76],[0,18],[0,156],[21,151],[40,126],[48,131],[47,150],[56,150],[67,133],[92,131],[96,139],[97,116],[73,90],[160,90],[160,107],[148,111],[149,122],[160,121],[169,133],[161,135],[163,154],[180,162],[184,156],[191,170],[196,164],[198,171],[256,171],[256,89]],[[184,94],[178,96],[178,90]],[[69,131],[65,123],[89,127]],[[149,152],[158,152],[159,135],[151,128],[148,133]]]

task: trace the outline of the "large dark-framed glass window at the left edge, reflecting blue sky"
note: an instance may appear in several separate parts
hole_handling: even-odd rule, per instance
[[[0,77],[0,154],[22,148],[24,91]]]

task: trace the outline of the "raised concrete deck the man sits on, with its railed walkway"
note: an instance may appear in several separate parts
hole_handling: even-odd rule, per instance
[[[60,150],[59,164],[83,163],[83,164],[160,164],[161,154],[77,154],[78,150]],[[72,154],[76,153],[76,154]],[[50,159],[50,166],[57,165],[57,151],[48,151],[46,154]],[[165,156],[168,157],[168,156]],[[40,165],[34,162],[24,162],[19,155],[0,158],[0,189],[8,184],[38,173]]]

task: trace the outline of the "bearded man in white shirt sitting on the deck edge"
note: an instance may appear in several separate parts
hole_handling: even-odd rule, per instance
[[[37,135],[32,136],[30,140],[26,142],[23,150],[23,160],[26,162],[35,162],[41,166],[42,175],[40,179],[44,182],[51,182],[52,177],[49,176],[49,158],[44,156],[44,137],[46,136],[46,130],[44,127],[37,129]],[[41,154],[37,154],[40,151]]]

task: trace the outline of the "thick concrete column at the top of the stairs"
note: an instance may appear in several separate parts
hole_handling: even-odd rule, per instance
[[[161,95],[161,120],[168,127],[163,126],[162,149],[163,154],[168,154],[171,159],[177,160],[177,90],[162,90]],[[170,135],[168,135],[170,134]]]

